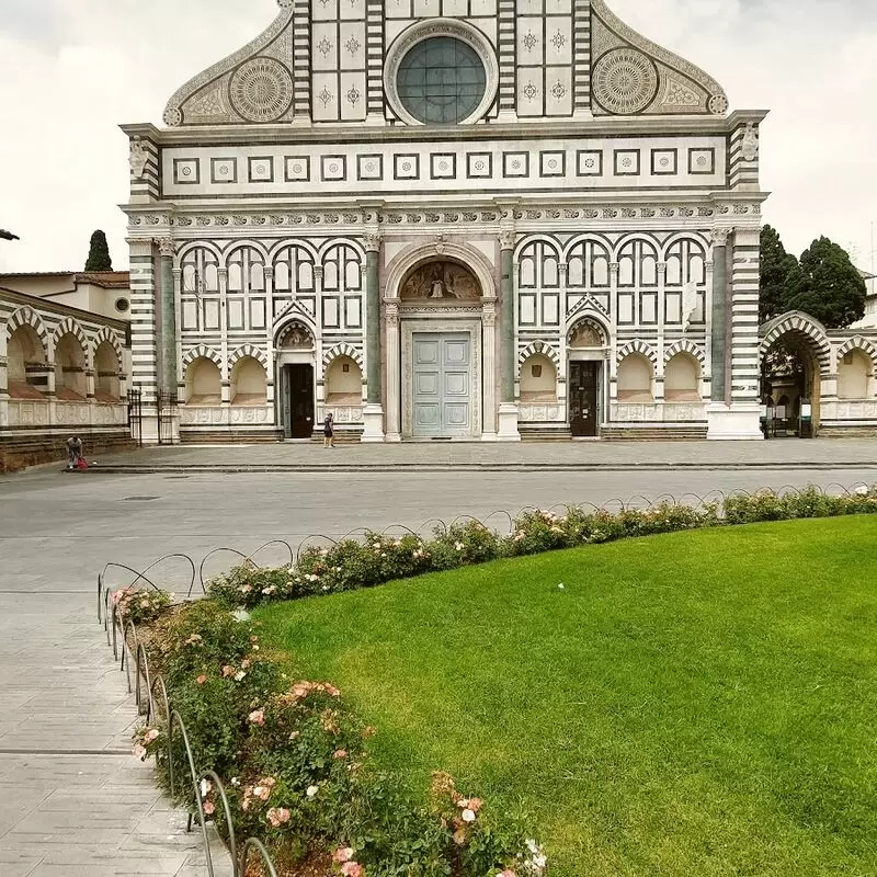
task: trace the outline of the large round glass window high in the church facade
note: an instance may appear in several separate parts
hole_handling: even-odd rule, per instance
[[[471,116],[485,98],[487,70],[462,39],[435,36],[418,43],[397,73],[399,100],[426,125],[454,125]]]

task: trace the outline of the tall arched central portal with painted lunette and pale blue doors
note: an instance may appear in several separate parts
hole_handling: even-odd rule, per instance
[[[485,257],[438,242],[387,277],[387,441],[496,438],[496,281]]]

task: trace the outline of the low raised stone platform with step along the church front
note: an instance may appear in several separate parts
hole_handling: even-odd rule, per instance
[[[141,448],[98,460],[100,471],[481,471],[740,467],[877,467],[877,440],[770,442],[524,442],[403,445],[311,443]]]

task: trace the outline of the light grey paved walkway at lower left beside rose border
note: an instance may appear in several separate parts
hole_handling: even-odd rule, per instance
[[[0,548],[0,875],[206,877],[200,834],[130,754],[136,709],[94,585],[62,574],[62,546],[38,542],[42,569]],[[219,853],[217,875],[229,874]]]

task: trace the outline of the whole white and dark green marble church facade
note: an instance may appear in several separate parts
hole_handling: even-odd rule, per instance
[[[278,5],[124,126],[174,438],[762,436],[765,112],[603,0]]]

